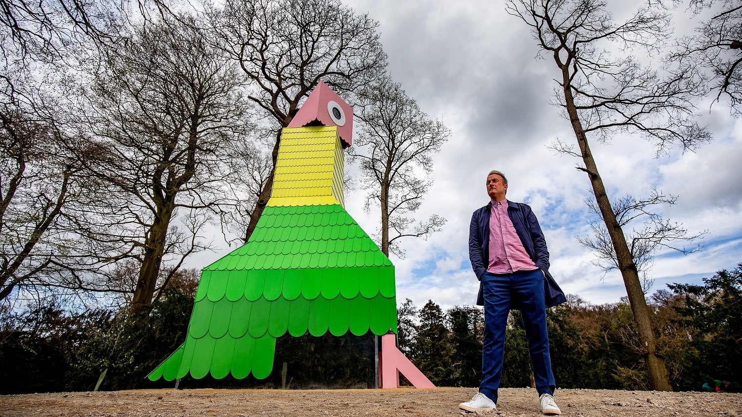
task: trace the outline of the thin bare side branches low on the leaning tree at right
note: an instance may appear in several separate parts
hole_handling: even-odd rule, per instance
[[[677,196],[666,196],[653,189],[647,199],[637,200],[633,196],[624,196],[621,199],[614,200],[611,204],[618,224],[623,230],[626,230],[629,224],[636,224],[641,221],[639,229],[632,227],[631,232],[626,233],[626,240],[628,241],[628,251],[631,253],[631,258],[634,259],[634,265],[636,265],[637,272],[640,275],[645,295],[649,292],[652,281],[654,281],[649,277],[649,269],[657,250],[669,249],[687,255],[701,249],[700,245],[688,248],[682,244],[695,241],[706,232],[689,235],[688,230],[683,228],[682,224],[663,218],[653,209],[653,207],[659,205],[672,205],[676,202]],[[597,267],[605,272],[617,270],[619,265],[616,250],[613,247],[611,236],[608,234],[608,229],[605,228],[600,207],[597,207],[594,200],[585,200],[585,204],[587,204],[591,213],[600,217],[600,222],[591,222],[592,236],[580,237],[577,240],[597,256],[594,261]]]

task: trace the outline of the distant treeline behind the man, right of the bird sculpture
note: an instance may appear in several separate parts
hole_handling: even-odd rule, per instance
[[[657,345],[674,390],[699,391],[712,379],[742,384],[742,264],[703,285],[674,284],[648,298]],[[643,349],[626,298],[593,305],[577,296],[550,308],[548,333],[557,387],[647,390]],[[400,345],[439,386],[478,387],[483,311],[433,301],[399,309]],[[415,322],[418,321],[418,324]],[[518,311],[508,318],[502,387],[531,387],[528,341]]]

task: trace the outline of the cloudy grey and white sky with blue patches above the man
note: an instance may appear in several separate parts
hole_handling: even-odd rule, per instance
[[[574,133],[549,104],[557,68],[535,59],[536,43],[525,24],[505,13],[502,1],[345,3],[379,22],[395,81],[452,130],[435,157],[435,184],[418,211],[420,218],[436,213],[448,222],[427,241],[402,242],[406,258],[392,259],[398,302],[474,304],[478,282],[467,255],[468,224],[473,210],[489,200],[485,178],[493,169],[508,176],[508,199],[533,207],[545,230],[551,273],[565,293],[594,304],[625,296],[620,273],[604,274],[577,243],[577,236],[589,233],[591,216],[583,201],[591,195],[590,184],[575,169],[577,160],[547,148],[555,139],[573,143]],[[687,33],[697,19],[682,15],[676,24],[677,33]],[[609,196],[647,196],[656,187],[679,197],[674,207],[663,207],[665,216],[691,233],[708,232],[699,253],[657,254],[652,291],[666,283],[700,282],[742,262],[742,119],[729,117],[724,104],[701,103],[699,113],[714,140],[695,153],[673,150],[655,159],[651,144],[631,136],[592,144]],[[364,212],[363,191],[347,191],[346,202],[351,216],[375,233],[378,209]]]

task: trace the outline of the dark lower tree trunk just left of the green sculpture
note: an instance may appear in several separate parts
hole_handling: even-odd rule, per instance
[[[134,298],[131,300],[131,314],[148,314],[152,307],[152,297],[157,287],[157,277],[160,276],[162,255],[165,253],[165,242],[168,236],[168,227],[175,208],[175,196],[171,196],[163,207],[158,210],[148,236],[145,240],[145,252],[142,266],[139,268],[137,287],[134,289]]]

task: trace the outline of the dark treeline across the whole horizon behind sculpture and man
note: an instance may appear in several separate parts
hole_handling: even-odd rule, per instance
[[[145,376],[185,340],[197,273],[168,284],[144,323],[128,310],[76,313],[50,298],[0,312],[0,393],[172,387]],[[660,353],[674,390],[700,390],[712,379],[742,381],[742,264],[720,270],[703,285],[674,284],[648,298]],[[551,361],[557,386],[646,390],[643,350],[628,302],[593,305],[577,296],[548,310]],[[398,309],[401,350],[438,386],[477,387],[484,317],[477,307],[444,311],[407,300]],[[373,387],[370,336],[279,340],[274,372],[263,381],[185,379],[183,387]],[[283,362],[287,364],[282,381]],[[508,319],[502,387],[531,386],[528,342],[520,313]]]

